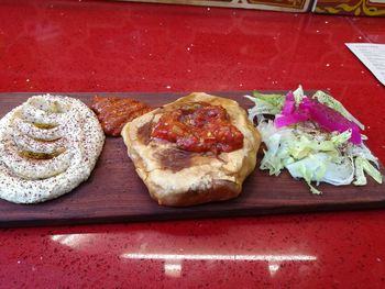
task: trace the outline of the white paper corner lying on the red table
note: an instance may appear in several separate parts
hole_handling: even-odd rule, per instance
[[[345,43],[345,45],[385,86],[385,44]]]

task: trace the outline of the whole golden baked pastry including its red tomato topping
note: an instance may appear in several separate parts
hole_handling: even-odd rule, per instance
[[[179,122],[170,127],[173,118]],[[175,133],[182,137],[176,140]],[[260,133],[237,101],[202,92],[127,123],[122,136],[151,197],[172,207],[238,197],[255,168],[261,144]]]

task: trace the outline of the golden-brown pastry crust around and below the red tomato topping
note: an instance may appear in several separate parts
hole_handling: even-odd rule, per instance
[[[230,153],[191,153],[176,144],[150,137],[151,129],[166,111],[189,102],[222,105],[231,123],[244,136],[243,147]],[[194,92],[124,125],[122,136],[138,175],[151,197],[162,205],[187,207],[235,198],[254,170],[261,136],[237,101]]]

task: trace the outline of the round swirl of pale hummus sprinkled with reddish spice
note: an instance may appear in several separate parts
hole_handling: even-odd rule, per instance
[[[36,203],[88,179],[105,134],[81,101],[34,96],[0,120],[0,198]]]

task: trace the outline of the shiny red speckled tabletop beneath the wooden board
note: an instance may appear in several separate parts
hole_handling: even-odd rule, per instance
[[[0,1],[1,91],[328,89],[385,163],[385,19]],[[1,103],[1,100],[0,100]],[[1,212],[0,212],[1,213]],[[0,288],[384,288],[385,210],[0,230]]]

